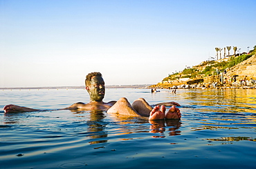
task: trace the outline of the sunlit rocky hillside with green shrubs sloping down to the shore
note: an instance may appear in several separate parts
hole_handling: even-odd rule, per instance
[[[182,72],[170,74],[163,81],[151,88],[198,88],[216,86],[255,86],[256,80],[256,46],[250,54],[239,54],[219,59],[203,61]],[[253,82],[253,83],[252,83]]]

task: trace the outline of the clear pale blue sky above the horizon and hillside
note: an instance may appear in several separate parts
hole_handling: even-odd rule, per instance
[[[256,1],[0,0],[0,87],[158,83],[256,45]],[[232,50],[231,50],[232,53]]]

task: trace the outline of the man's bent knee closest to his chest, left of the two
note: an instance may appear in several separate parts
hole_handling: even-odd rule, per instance
[[[116,103],[109,108],[109,110],[107,110],[107,113],[140,117],[140,115],[138,115],[134,108],[131,107],[131,104],[125,97],[122,97],[116,101]]]

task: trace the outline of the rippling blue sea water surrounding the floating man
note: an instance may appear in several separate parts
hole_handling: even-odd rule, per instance
[[[0,90],[0,168],[256,168],[256,90],[106,89],[104,101],[176,101],[181,120],[57,110],[83,89]]]

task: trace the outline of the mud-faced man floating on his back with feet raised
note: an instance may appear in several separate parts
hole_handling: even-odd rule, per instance
[[[157,119],[181,119],[181,112],[176,106],[180,106],[176,102],[158,103],[154,108],[149,106],[145,99],[140,98],[130,104],[125,97],[118,101],[103,102],[105,95],[105,83],[100,72],[91,72],[87,74],[85,80],[86,90],[90,95],[89,103],[74,103],[68,108],[59,110],[107,110],[107,113],[132,116],[132,117],[149,117],[149,120]],[[165,112],[165,106],[172,106],[170,110]],[[26,108],[17,105],[7,105],[3,108],[5,112],[34,112],[38,109]]]

